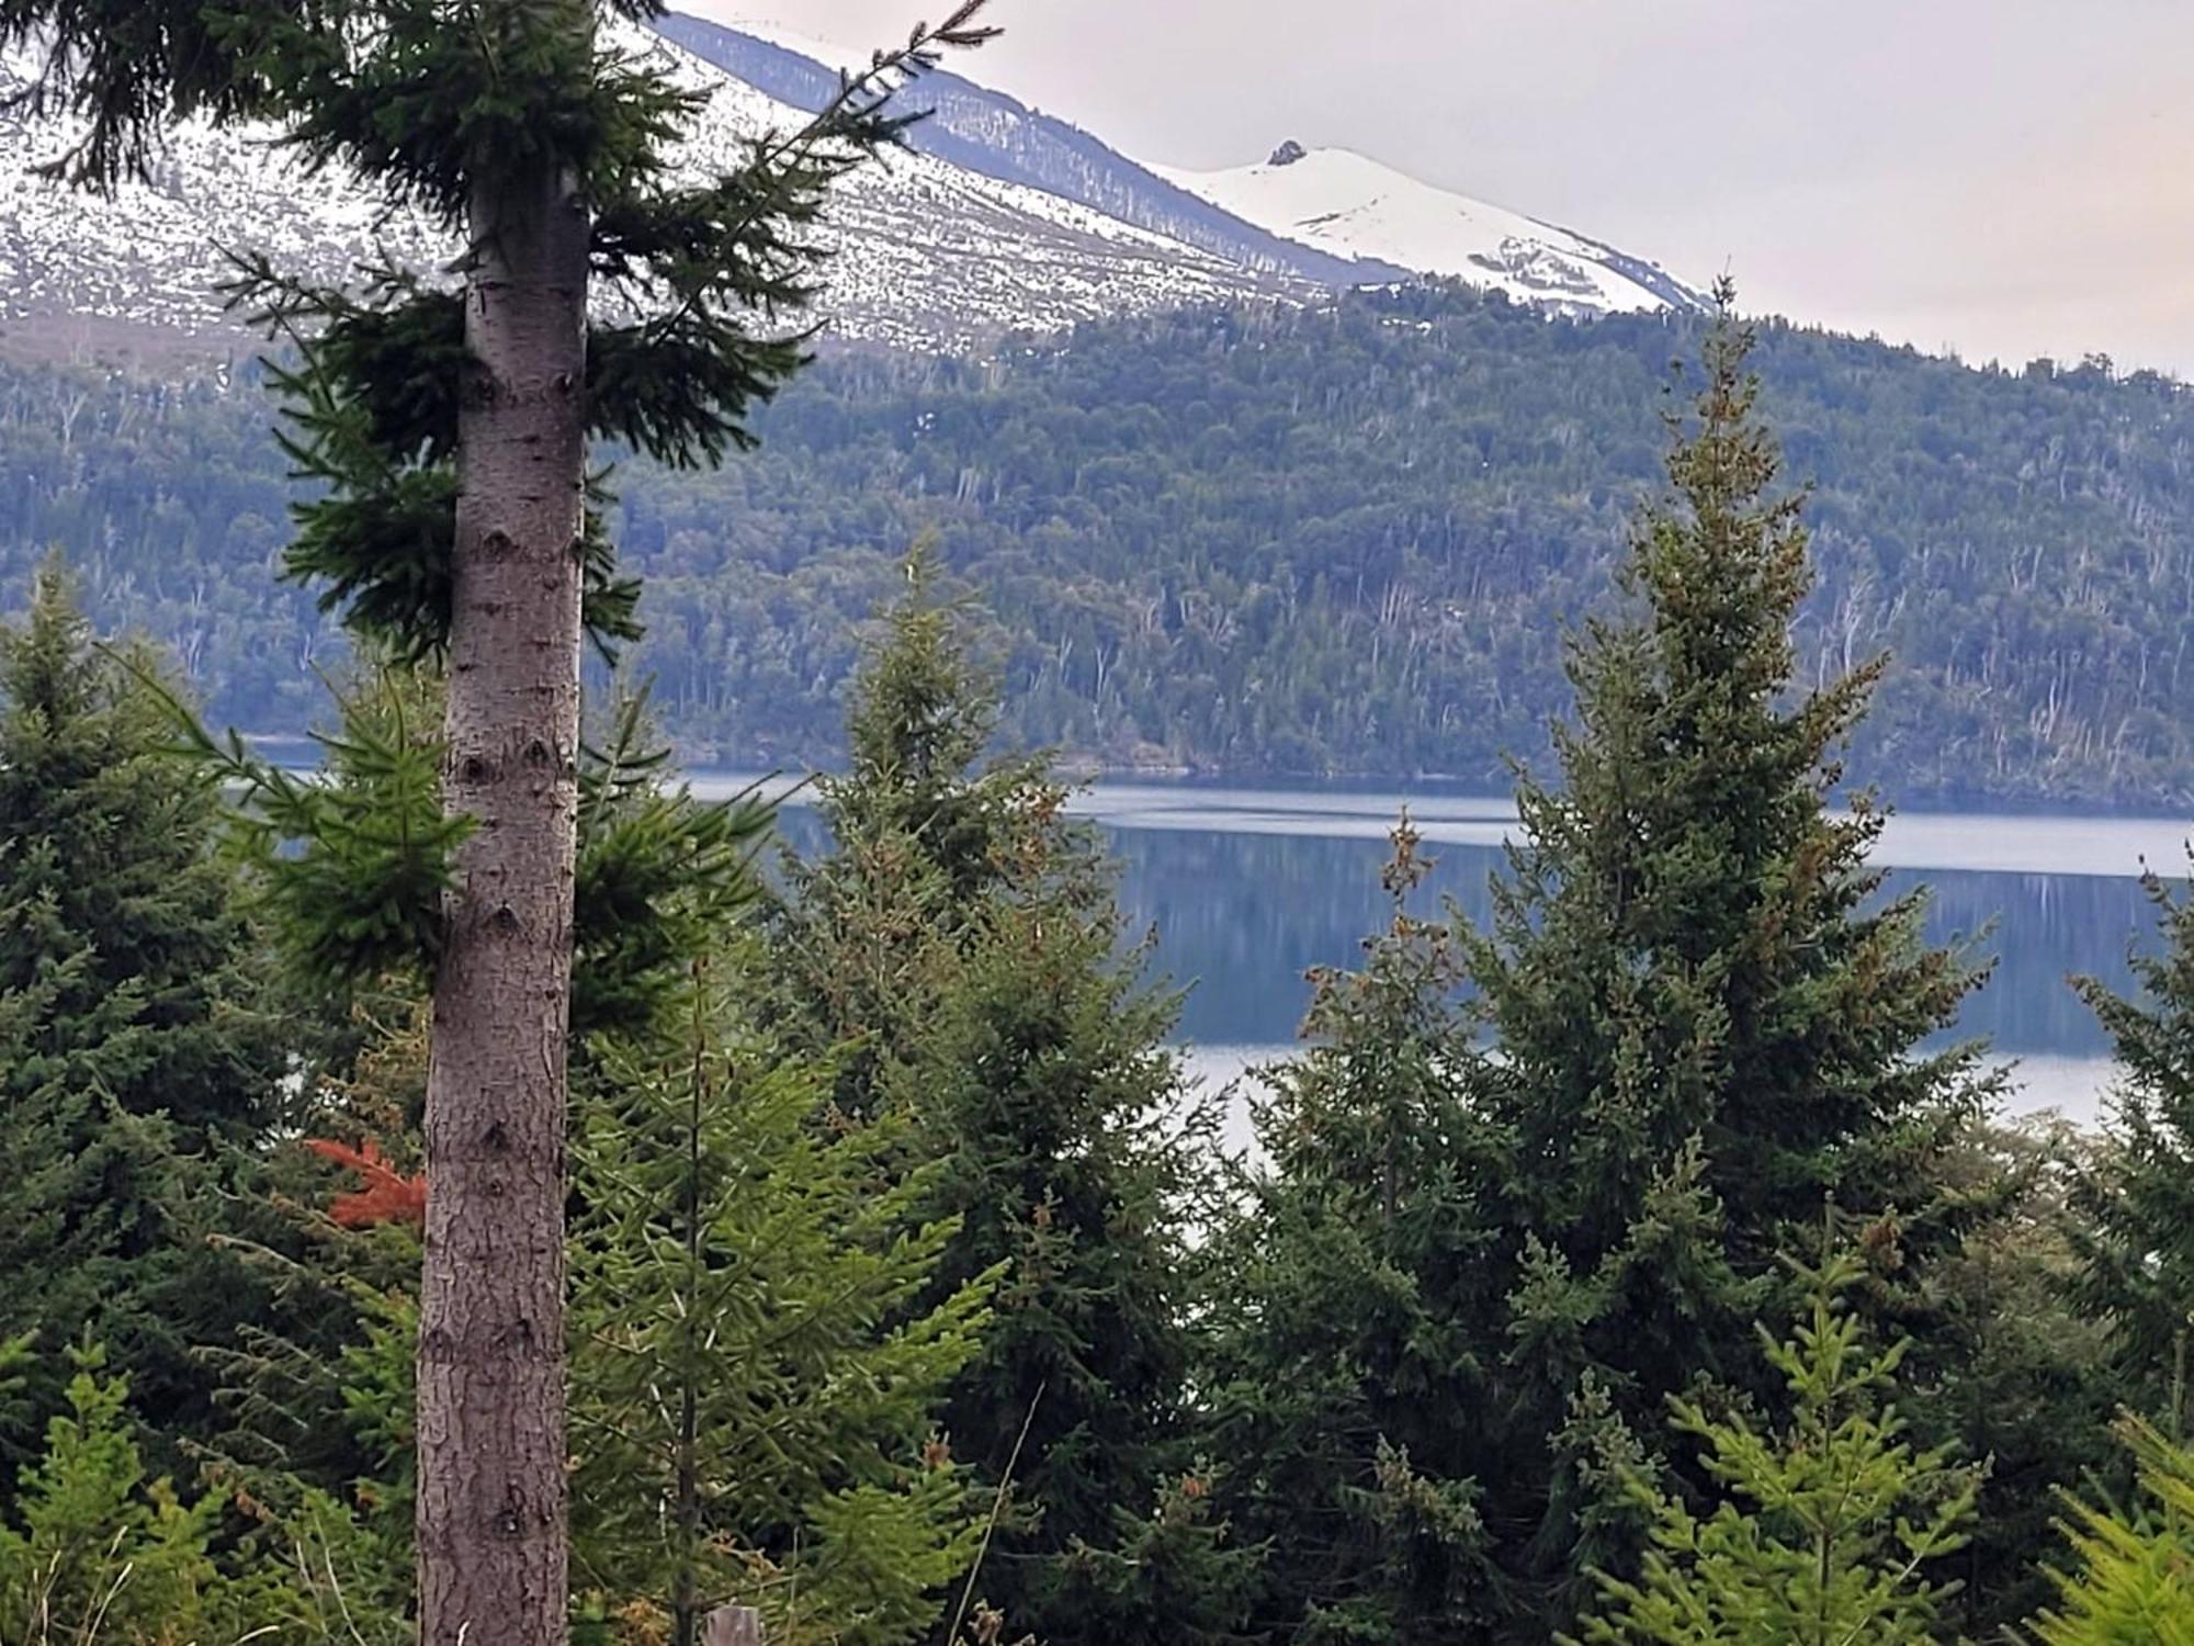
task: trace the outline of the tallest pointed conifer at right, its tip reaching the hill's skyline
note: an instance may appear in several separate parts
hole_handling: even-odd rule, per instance
[[[1823,1196],[1885,1266],[1922,1260],[1942,1152],[1986,1095],[1972,1047],[1920,1051],[1975,972],[1922,942],[1924,893],[1878,895],[1874,799],[1828,805],[1880,663],[1792,685],[1801,498],[1775,494],[1753,334],[1727,285],[1720,305],[1672,496],[1621,573],[1641,610],[1586,628],[1562,786],[1518,783],[1492,926],[1466,939],[1501,1051],[1472,1102],[1509,1150],[1503,1337],[1547,1431],[1586,1376],[1632,1429],[1698,1376],[1749,1383],[1777,1251]],[[1593,1490],[1542,1468],[1514,1506],[1538,1521],[1525,1563],[1573,1585]]]

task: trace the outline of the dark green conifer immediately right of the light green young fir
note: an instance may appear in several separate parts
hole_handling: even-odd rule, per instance
[[[1194,1183],[1165,1049],[1172,1001],[1117,961],[1108,909],[983,911],[974,952],[891,1106],[921,1117],[939,1176],[928,1205],[963,1225],[943,1279],[1007,1264],[983,1356],[946,1405],[954,1455],[1014,1468],[1029,1527],[1000,1534],[989,1596],[1066,1646],[1097,1620],[1055,1609],[1040,1556],[1106,1547],[1178,1457],[1187,1380],[1180,1218]],[[1106,893],[1108,895],[1108,889]]]

